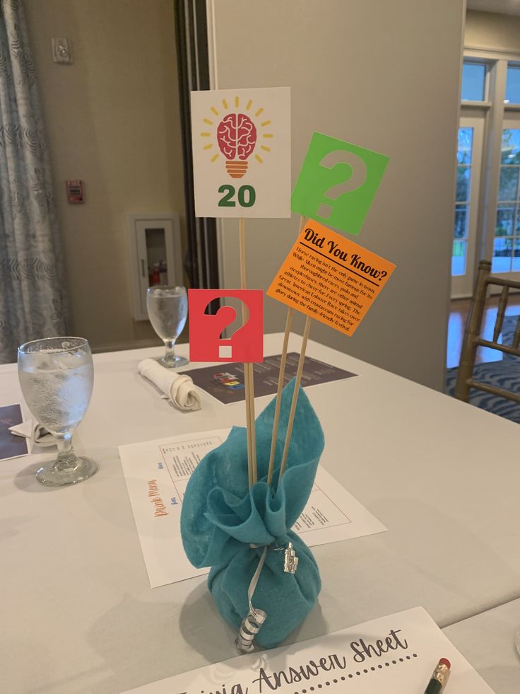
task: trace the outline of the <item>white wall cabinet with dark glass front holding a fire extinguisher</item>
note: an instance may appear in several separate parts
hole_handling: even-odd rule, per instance
[[[132,313],[148,320],[150,284],[184,284],[179,214],[129,215]]]

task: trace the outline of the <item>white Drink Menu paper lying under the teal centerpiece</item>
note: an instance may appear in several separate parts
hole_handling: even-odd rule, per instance
[[[218,429],[119,446],[152,588],[209,570],[195,569],[184,554],[180,531],[182,499],[196,465],[206,453],[223,444],[229,432],[230,429]],[[309,501],[293,530],[312,547],[381,533],[386,528],[320,466]]]

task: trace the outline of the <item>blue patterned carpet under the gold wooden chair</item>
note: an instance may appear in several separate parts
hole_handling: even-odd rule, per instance
[[[506,316],[502,328],[502,344],[511,345],[514,330],[519,316]],[[497,352],[500,355],[500,352]],[[446,378],[446,392],[453,395],[458,369],[448,369]],[[488,383],[490,386],[506,388],[508,391],[520,393],[520,357],[512,357],[504,354],[504,358],[499,362],[488,362],[487,364],[477,364],[473,371],[475,381]],[[512,400],[499,398],[497,395],[490,395],[484,391],[471,389],[470,403],[483,410],[493,412],[495,415],[505,417],[512,422],[520,423],[520,405],[513,403]]]

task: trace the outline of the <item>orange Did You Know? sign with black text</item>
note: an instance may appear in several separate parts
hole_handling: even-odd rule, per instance
[[[395,267],[309,219],[267,294],[353,335]]]

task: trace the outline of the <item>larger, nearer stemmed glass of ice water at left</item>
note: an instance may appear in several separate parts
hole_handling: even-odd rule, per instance
[[[49,487],[83,482],[98,470],[78,458],[72,432],[83,420],[94,383],[92,354],[83,337],[47,337],[18,347],[18,378],[32,415],[55,436],[58,457],[36,473]]]

